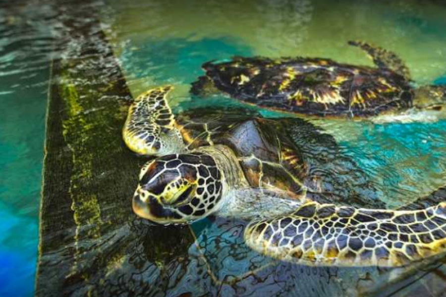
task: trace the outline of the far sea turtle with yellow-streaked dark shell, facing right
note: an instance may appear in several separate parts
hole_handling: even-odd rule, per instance
[[[442,109],[445,86],[414,88],[408,68],[389,50],[360,41],[377,68],[307,57],[233,57],[203,64],[205,76],[191,93],[222,91],[243,102],[299,114],[368,117],[419,109]]]

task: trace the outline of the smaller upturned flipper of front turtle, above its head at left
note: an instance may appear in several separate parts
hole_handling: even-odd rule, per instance
[[[171,86],[151,89],[135,99],[129,108],[122,137],[128,148],[143,155],[178,152],[181,136],[166,97]],[[165,139],[170,137],[170,139]]]

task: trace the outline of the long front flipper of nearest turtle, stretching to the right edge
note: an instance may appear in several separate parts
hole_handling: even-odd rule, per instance
[[[415,211],[308,202],[250,223],[245,239],[260,253],[301,264],[404,266],[446,251],[446,202]]]

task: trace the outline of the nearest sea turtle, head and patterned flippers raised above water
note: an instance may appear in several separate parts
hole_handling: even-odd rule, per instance
[[[234,116],[223,129],[207,122],[194,132],[196,123],[174,118],[170,90],[138,97],[123,128],[129,148],[158,156],[141,169],[137,215],[163,225],[210,214],[247,220],[249,247],[310,265],[402,266],[445,251],[446,202],[419,210],[326,203],[302,185],[305,163],[280,120]]]

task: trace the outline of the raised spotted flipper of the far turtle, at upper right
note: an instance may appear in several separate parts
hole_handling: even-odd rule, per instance
[[[357,40],[349,41],[348,44],[359,47],[367,52],[378,67],[390,69],[395,73],[402,75],[407,80],[410,80],[409,68],[407,68],[404,62],[394,52]]]

